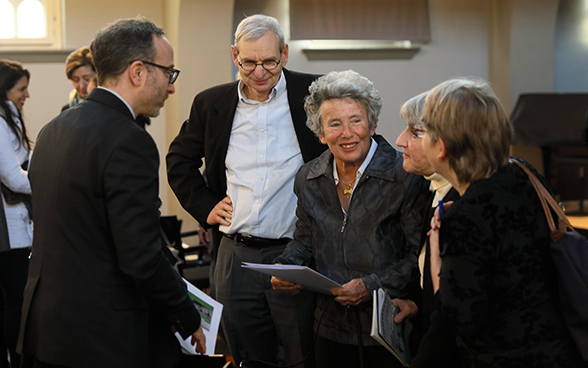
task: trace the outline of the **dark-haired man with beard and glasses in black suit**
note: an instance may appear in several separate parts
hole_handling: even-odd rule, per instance
[[[90,48],[100,87],[43,128],[31,161],[24,366],[172,366],[172,328],[200,352],[205,339],[162,251],[157,147],[135,117],[159,114],[179,71],[145,18],[117,21]]]

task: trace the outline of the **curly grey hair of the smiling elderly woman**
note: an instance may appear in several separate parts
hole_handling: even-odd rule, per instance
[[[330,72],[312,82],[308,88],[304,110],[306,125],[318,137],[324,137],[321,105],[327,100],[351,98],[363,105],[368,117],[370,129],[378,126],[378,117],[382,110],[382,98],[372,81],[353,70]]]

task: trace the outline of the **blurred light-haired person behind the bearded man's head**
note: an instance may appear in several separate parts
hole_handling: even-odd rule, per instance
[[[74,89],[69,93],[69,103],[63,106],[61,111],[79,104],[90,93],[88,85],[96,76],[96,68],[94,68],[88,46],[83,46],[67,56],[65,75],[71,81]]]

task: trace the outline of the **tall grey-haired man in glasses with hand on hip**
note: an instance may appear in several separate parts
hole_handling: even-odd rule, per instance
[[[277,293],[269,276],[241,261],[273,263],[294,233],[294,176],[325,149],[303,108],[317,76],[283,69],[288,45],[271,17],[245,18],[231,49],[241,80],[196,96],[171,144],[168,179],[182,206],[212,227],[217,299],[235,361],[275,363],[280,342],[291,364],[312,348],[313,295]]]

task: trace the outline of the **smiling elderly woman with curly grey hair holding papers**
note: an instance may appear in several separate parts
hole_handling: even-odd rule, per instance
[[[375,134],[382,103],[371,81],[332,72],[309,90],[307,125],[329,150],[296,175],[296,231],[276,262],[310,266],[343,285],[334,297],[317,297],[318,367],[399,366],[370,337],[372,295],[379,288],[392,298],[418,292],[428,184],[404,171],[402,154]],[[302,289],[276,277],[272,284]]]

